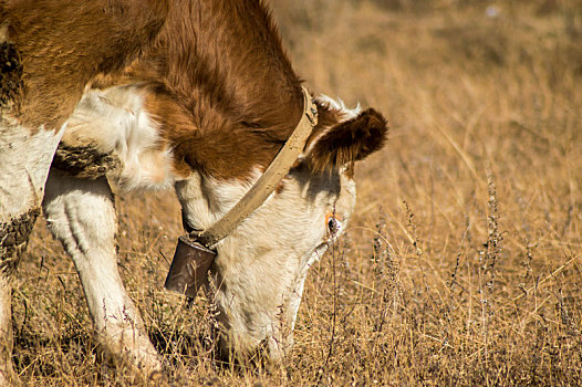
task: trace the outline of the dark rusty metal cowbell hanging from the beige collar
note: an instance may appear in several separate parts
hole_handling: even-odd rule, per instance
[[[208,271],[216,255],[216,251],[204,247],[196,239],[181,236],[164,286],[194,299],[200,286],[208,284]]]

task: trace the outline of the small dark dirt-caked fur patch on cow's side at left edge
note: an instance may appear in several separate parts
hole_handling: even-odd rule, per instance
[[[0,107],[18,112],[22,92],[22,63],[14,44],[0,42]]]

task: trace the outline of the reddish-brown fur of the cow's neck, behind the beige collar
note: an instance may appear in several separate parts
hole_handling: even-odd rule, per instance
[[[147,109],[175,168],[219,179],[267,167],[303,107],[301,81],[260,1],[176,3],[129,74],[152,85]]]

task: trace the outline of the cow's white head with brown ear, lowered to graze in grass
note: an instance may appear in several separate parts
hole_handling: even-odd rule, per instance
[[[216,245],[211,266],[221,347],[248,356],[285,353],[309,268],[345,229],[355,205],[354,163],[378,150],[386,121],[318,98],[320,124],[271,197]],[[260,176],[257,170],[254,178]],[[253,180],[254,181],[254,180]],[[187,227],[206,229],[253,184],[201,175],[176,185]]]

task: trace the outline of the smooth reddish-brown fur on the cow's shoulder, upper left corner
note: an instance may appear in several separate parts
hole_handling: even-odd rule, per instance
[[[92,77],[123,69],[156,36],[167,9],[160,0],[0,2],[0,24],[22,59],[19,118],[59,128]]]

